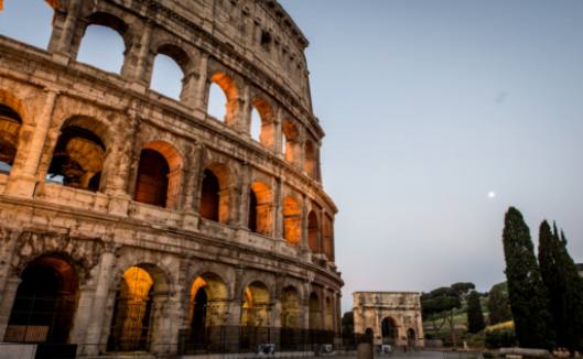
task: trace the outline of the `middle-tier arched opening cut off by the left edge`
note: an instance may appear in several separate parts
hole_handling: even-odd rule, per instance
[[[19,146],[22,119],[11,107],[0,104],[0,173],[10,173]]]

